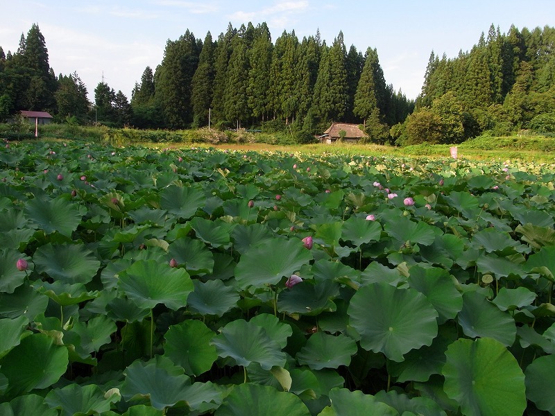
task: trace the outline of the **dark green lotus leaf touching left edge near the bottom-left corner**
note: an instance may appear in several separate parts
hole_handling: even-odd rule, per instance
[[[0,360],[2,373],[9,385],[4,399],[33,389],[50,387],[67,370],[67,348],[44,333],[33,333],[22,339]]]

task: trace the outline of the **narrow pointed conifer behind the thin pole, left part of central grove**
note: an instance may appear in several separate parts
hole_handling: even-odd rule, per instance
[[[208,123],[210,104],[212,103],[212,85],[214,83],[214,42],[208,32],[200,51],[198,67],[192,80],[192,96],[194,122],[203,126]]]

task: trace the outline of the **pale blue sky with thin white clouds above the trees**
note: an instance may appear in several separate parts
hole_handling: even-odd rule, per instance
[[[19,37],[39,25],[56,74],[77,71],[94,98],[102,80],[128,98],[145,67],[154,70],[167,40],[187,29],[216,39],[234,27],[266,21],[272,40],[294,30],[299,39],[314,35],[331,44],[343,31],[347,49],[377,49],[386,83],[407,98],[420,93],[429,55],[455,57],[487,34],[491,24],[502,33],[554,26],[553,0],[0,0],[0,46],[17,51]]]

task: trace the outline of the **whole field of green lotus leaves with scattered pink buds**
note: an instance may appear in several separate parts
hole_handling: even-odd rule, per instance
[[[555,165],[0,148],[0,414],[555,414]]]

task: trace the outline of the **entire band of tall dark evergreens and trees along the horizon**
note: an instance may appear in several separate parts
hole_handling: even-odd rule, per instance
[[[332,121],[359,123],[370,141],[457,143],[488,133],[555,133],[555,29],[500,33],[493,25],[470,51],[432,51],[415,101],[388,85],[376,49],[329,46],[319,32],[275,42],[265,23],[228,25],[216,40],[186,31],[146,67],[130,101],[101,82],[94,103],[78,74],[56,76],[37,24],[15,53],[0,46],[0,121],[19,110],[49,111],[65,123],[135,128],[287,129],[312,137]]]

